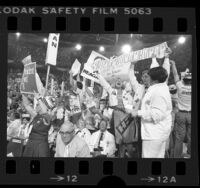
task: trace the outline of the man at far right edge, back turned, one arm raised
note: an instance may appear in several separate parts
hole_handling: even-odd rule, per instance
[[[191,73],[185,72],[182,80],[176,69],[174,61],[170,61],[172,65],[172,72],[177,87],[178,94],[178,112],[175,115],[175,147],[174,157],[181,158],[183,154],[183,142],[187,138],[188,148],[187,153],[191,154]]]

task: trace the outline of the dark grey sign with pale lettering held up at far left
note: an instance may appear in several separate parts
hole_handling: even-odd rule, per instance
[[[34,94],[39,93],[36,84],[36,63],[29,63],[24,65],[24,72],[20,85],[21,93]]]

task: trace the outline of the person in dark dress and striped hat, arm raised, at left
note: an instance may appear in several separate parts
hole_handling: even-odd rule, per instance
[[[41,97],[35,94],[35,97],[38,101],[36,110],[30,106],[28,98],[22,95],[23,105],[33,118],[29,125],[31,130],[29,130],[29,140],[23,157],[50,157],[48,132],[51,116],[49,114],[55,106],[50,96]]]

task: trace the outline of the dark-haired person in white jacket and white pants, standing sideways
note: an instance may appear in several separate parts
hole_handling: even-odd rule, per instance
[[[141,109],[132,111],[132,115],[141,117],[142,158],[164,158],[172,126],[172,102],[166,84],[168,74],[163,67],[155,67],[148,75],[150,87]]]

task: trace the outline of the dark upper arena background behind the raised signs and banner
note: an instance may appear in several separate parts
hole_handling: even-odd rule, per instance
[[[37,71],[39,74],[46,73],[45,58],[47,43],[43,41],[48,39],[48,33],[43,34],[27,34],[10,33],[8,36],[8,72],[22,72],[22,59],[31,55],[32,61],[37,63]],[[184,36],[185,43],[178,43],[178,38]],[[130,44],[133,51],[146,47],[152,47],[162,42],[167,42],[172,49],[170,59],[174,60],[177,65],[178,72],[185,71],[186,68],[192,69],[192,37],[191,35],[147,35],[147,34],[60,34],[57,65],[51,66],[51,73],[59,76],[60,79],[68,79],[71,65],[77,58],[83,64],[87,61],[92,50],[99,52],[99,47],[104,46],[105,51],[100,54],[110,58],[112,56],[120,56],[122,54],[121,47],[124,44]],[[80,43],[82,49],[75,49],[76,44]],[[163,60],[158,59],[162,64]],[[138,62],[136,71],[141,72],[148,69],[151,59]],[[81,69],[82,69],[81,68]],[[61,76],[60,76],[61,75]],[[173,83],[173,77],[170,76],[170,82]]]

